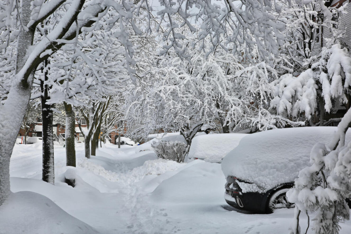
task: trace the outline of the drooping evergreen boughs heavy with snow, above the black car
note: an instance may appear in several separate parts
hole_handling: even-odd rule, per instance
[[[336,103],[347,103],[351,85],[350,55],[340,44],[323,48],[322,57],[310,69],[297,77],[282,75],[271,85],[270,108],[275,109],[277,115],[298,117],[304,113],[310,119],[318,111],[322,125],[325,112],[330,112]]]

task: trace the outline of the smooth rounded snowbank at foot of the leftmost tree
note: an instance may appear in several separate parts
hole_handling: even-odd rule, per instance
[[[38,193],[12,193],[0,206],[0,233],[98,233]]]

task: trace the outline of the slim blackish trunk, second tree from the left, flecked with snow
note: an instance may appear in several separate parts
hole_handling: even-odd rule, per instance
[[[47,66],[47,60],[44,61],[44,68]],[[53,105],[46,104],[50,99],[49,87],[47,85],[47,71],[45,71],[44,80],[40,81],[41,95],[41,118],[42,118],[42,180],[54,184],[54,142],[52,132],[53,122]]]

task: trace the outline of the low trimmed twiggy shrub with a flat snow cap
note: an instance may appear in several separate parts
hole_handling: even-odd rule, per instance
[[[154,148],[158,158],[184,162],[186,145],[184,142],[153,142],[151,146]]]

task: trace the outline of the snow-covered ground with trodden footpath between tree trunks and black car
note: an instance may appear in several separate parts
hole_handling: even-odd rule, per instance
[[[220,164],[157,159],[148,143],[107,144],[91,159],[78,143],[76,153],[77,167],[66,167],[55,145],[54,186],[41,181],[41,143],[15,145],[0,233],[288,233],[292,209],[249,214],[226,204]],[[350,221],[341,226],[351,232]]]

